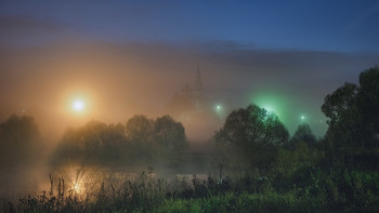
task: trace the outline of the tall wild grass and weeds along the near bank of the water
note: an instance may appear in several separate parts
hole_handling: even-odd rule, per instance
[[[114,178],[76,192],[65,179],[50,178],[49,191],[4,203],[4,212],[376,212],[378,172],[309,168],[283,183],[245,173],[206,179],[166,181],[152,170],[134,181]],[[299,179],[301,176],[301,179]],[[282,183],[282,184],[283,184]]]

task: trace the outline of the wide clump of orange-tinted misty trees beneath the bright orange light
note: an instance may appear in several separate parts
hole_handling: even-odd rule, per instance
[[[90,121],[65,132],[52,163],[65,159],[100,164],[177,159],[186,150],[187,143],[183,124],[170,116],[154,120],[135,115],[125,125]]]

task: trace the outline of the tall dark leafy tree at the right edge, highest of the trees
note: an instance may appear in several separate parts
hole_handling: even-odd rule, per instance
[[[360,86],[344,83],[325,97],[330,147],[377,147],[379,133],[379,68],[360,75]]]

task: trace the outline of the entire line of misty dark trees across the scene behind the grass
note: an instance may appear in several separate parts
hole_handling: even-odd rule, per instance
[[[322,111],[328,118],[325,136],[316,139],[306,123],[292,135],[278,117],[251,104],[232,111],[212,138],[219,161],[230,165],[270,168],[283,150],[299,147],[322,151],[334,162],[374,160],[379,139],[379,68],[360,75],[360,84],[344,83],[325,97]],[[40,133],[31,117],[11,116],[0,124],[1,162],[29,159],[39,147]],[[300,144],[300,145],[299,145]],[[188,142],[181,122],[170,116],[149,119],[136,115],[125,124],[90,121],[68,129],[51,160],[86,159],[99,164],[180,163]],[[15,161],[16,162],[16,161]]]

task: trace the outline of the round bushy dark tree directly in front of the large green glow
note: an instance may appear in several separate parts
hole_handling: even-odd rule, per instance
[[[256,156],[272,155],[273,149],[286,144],[288,137],[288,131],[277,116],[257,105],[232,111],[213,136],[217,144],[226,145],[228,151],[236,148],[250,161]]]

